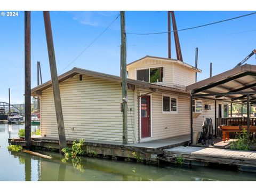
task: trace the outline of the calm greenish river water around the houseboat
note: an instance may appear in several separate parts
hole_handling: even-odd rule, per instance
[[[202,181],[256,180],[256,174],[218,167],[148,166],[99,158],[65,160],[58,153],[43,151],[53,159],[43,159],[7,150],[9,131],[17,137],[24,125],[0,124],[0,181]],[[32,126],[32,131],[39,127]]]

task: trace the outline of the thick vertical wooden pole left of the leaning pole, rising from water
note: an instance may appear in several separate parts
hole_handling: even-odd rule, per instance
[[[25,11],[25,141],[31,147],[31,41],[30,11]]]

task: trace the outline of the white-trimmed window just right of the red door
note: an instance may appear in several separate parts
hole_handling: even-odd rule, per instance
[[[177,97],[163,94],[163,113],[178,113]]]

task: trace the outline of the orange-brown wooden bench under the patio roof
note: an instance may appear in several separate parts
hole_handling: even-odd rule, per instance
[[[229,140],[229,133],[231,132],[241,132],[243,129],[247,130],[247,126],[231,126],[231,125],[220,125],[219,128],[222,131],[222,141]],[[256,132],[256,126],[250,126],[250,133]]]

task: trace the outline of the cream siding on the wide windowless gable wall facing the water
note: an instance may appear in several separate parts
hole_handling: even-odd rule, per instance
[[[121,84],[83,75],[60,83],[67,139],[122,142]],[[128,141],[134,142],[134,92],[128,90]],[[74,130],[71,129],[74,127]],[[58,137],[52,88],[42,92],[41,135]]]

